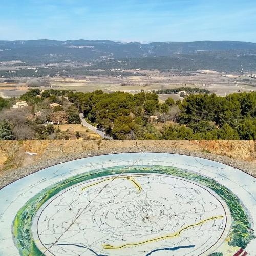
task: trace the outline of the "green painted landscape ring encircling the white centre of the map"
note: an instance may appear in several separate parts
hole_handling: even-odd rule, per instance
[[[80,175],[73,176],[64,181],[60,181],[52,186],[40,191],[39,194],[31,198],[18,212],[13,222],[13,238],[20,252],[20,255],[41,256],[42,253],[36,247],[32,233],[31,224],[32,218],[38,209],[51,197],[72,185],[86,182],[94,178],[102,178],[113,174],[129,174],[129,173],[158,173],[173,175],[180,178],[195,181],[202,184],[211,190],[215,191],[228,205],[232,216],[232,228],[229,236],[231,237],[230,245],[245,248],[251,241],[253,232],[250,230],[250,219],[246,215],[246,211],[241,204],[239,198],[234,195],[225,186],[219,184],[215,180],[201,176],[195,173],[189,173],[184,170],[167,167],[167,166],[136,166],[125,167],[117,166],[99,170],[98,172],[91,171]]]

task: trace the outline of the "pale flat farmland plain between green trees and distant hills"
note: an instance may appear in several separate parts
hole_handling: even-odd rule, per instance
[[[139,71],[143,76],[138,75],[134,70],[124,70],[123,72],[133,72],[134,76],[84,76],[77,78],[53,77],[42,78],[49,84],[41,89],[67,89],[80,92],[92,92],[94,90],[103,90],[104,92],[124,91],[129,93],[138,93],[141,90],[153,91],[177,87],[199,87],[210,90],[218,96],[225,96],[234,92],[256,91],[256,79],[250,74],[234,75],[219,73],[215,71],[197,71],[197,72],[160,72],[158,70]],[[29,81],[29,78],[28,78]],[[27,82],[28,82],[27,81]],[[17,97],[24,93],[26,82],[24,78],[18,84],[12,84],[9,87],[0,80],[0,93],[5,97]],[[178,95],[170,95],[175,100]],[[167,96],[161,95],[160,100],[165,100]]]

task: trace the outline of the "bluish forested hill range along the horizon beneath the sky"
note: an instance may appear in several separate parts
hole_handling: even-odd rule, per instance
[[[96,63],[97,65],[100,63],[100,68],[110,66],[120,68],[122,66],[120,63],[124,63],[123,66],[132,68],[163,69],[167,67],[180,70],[195,70],[202,67],[216,69],[219,66],[218,63],[224,63],[219,67],[222,69],[219,71],[238,71],[241,70],[241,66],[244,70],[251,71],[256,69],[256,44],[236,41],[152,42],[150,44],[107,40],[0,41],[0,60],[2,62],[18,60],[33,65],[56,62]]]

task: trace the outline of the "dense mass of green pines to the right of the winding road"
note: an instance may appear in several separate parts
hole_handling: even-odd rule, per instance
[[[94,125],[115,139],[256,139],[256,92],[190,94],[160,104],[158,95],[72,92],[69,99]],[[151,122],[174,121],[161,131]]]

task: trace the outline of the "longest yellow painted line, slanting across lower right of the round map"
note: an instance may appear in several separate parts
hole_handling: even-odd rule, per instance
[[[168,236],[153,238],[153,239],[146,240],[146,241],[143,241],[143,242],[140,242],[140,243],[124,244],[124,245],[121,245],[121,246],[112,246],[112,245],[109,245],[109,244],[103,244],[102,246],[103,246],[104,249],[121,249],[121,248],[126,247],[126,246],[136,246],[136,245],[141,245],[141,244],[145,244],[145,243],[149,243],[149,242],[154,242],[154,241],[157,241],[157,240],[160,240],[160,239],[172,238],[172,237],[179,236],[182,231],[184,231],[184,230],[186,230],[190,227],[198,226],[200,224],[203,224],[204,222],[214,220],[214,219],[221,219],[221,218],[223,218],[223,216],[211,217],[209,219],[206,219],[206,220],[200,221],[198,223],[195,223],[195,224],[189,225],[187,227],[184,227],[184,228],[182,228],[181,230],[179,230],[178,232],[176,232],[174,234],[169,234]]]

